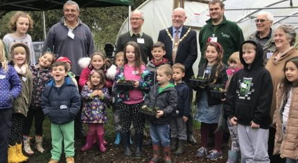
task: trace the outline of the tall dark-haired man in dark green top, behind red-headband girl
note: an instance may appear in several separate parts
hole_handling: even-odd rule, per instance
[[[206,44],[209,41],[218,42],[224,49],[223,62],[227,64],[229,56],[239,50],[244,41],[241,28],[234,22],[225,18],[225,4],[220,0],[209,2],[210,19],[202,27],[199,34],[199,44],[201,50],[200,66],[206,59],[203,57]]]

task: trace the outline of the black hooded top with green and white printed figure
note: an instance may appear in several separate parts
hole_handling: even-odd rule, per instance
[[[244,69],[239,70],[229,84],[225,101],[226,115],[229,118],[236,116],[239,124],[249,126],[253,121],[260,128],[267,129],[271,123],[272,79],[268,70],[263,67],[261,44],[252,39],[243,42],[245,43],[256,46],[256,57],[249,68],[240,48],[240,61]]]

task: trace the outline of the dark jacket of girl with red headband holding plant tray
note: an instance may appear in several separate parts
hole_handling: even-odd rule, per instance
[[[198,77],[202,77],[204,75],[204,71],[207,67],[207,64],[204,64],[202,66],[200,66],[199,70],[198,70]],[[223,66],[222,70],[220,71],[220,75],[218,77],[218,79],[216,79],[216,83],[214,84],[211,84],[212,81],[213,81],[213,78],[215,77],[215,68],[216,66],[213,66],[211,68],[211,74],[209,75],[209,84],[208,86],[206,86],[205,88],[198,88],[198,89],[195,89],[197,90],[197,94],[196,94],[196,99],[200,99],[201,97],[201,91],[203,89],[207,90],[207,93],[208,93],[208,106],[213,106],[213,105],[218,105],[218,104],[222,104],[222,101],[221,99],[218,99],[218,98],[213,98],[210,96],[210,92],[209,90],[213,90],[214,88],[225,88],[225,85],[227,84],[227,66]]]

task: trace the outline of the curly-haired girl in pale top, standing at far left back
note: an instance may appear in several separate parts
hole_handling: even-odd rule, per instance
[[[28,35],[28,30],[33,30],[33,19],[25,12],[17,11],[15,15],[10,18],[9,28],[12,33],[3,37],[3,42],[6,44],[6,49],[10,50],[10,46],[14,42],[21,42],[26,44],[30,50],[30,64],[35,64],[35,53],[33,50],[32,39]]]

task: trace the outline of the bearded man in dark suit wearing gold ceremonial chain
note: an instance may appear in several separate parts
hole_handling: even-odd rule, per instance
[[[172,14],[172,26],[159,31],[158,41],[164,43],[166,48],[165,57],[170,64],[183,64],[185,66],[186,83],[193,76],[193,63],[198,57],[197,32],[184,26],[186,14],[183,8],[175,8]],[[197,142],[193,137],[193,118],[189,116],[186,122],[187,140],[193,144]]]

